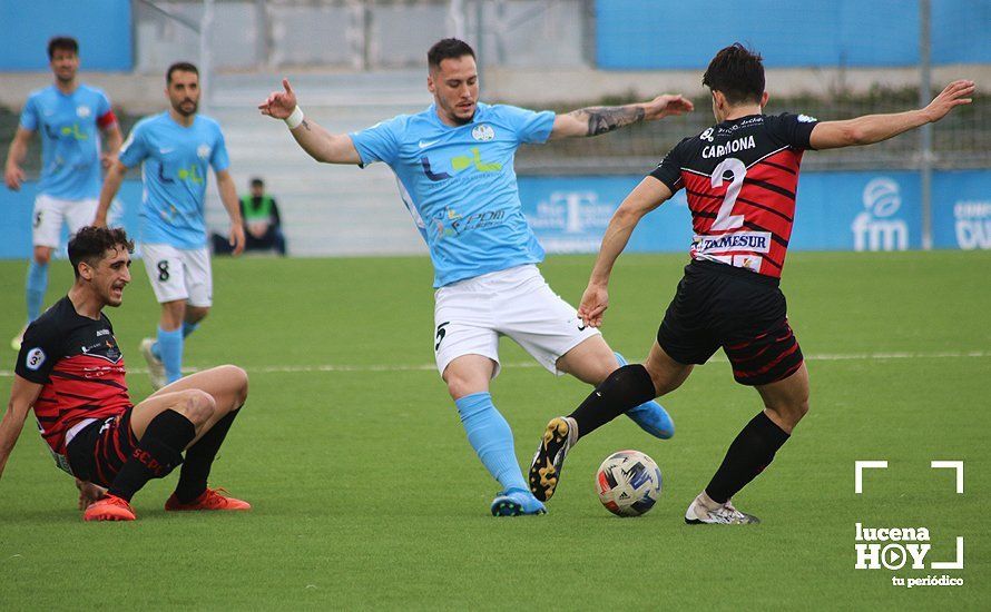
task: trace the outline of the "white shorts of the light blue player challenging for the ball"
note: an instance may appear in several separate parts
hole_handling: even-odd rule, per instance
[[[496,362],[499,337],[509,336],[540,365],[561,375],[557,362],[599,330],[587,327],[578,312],[551,290],[534,265],[518,266],[441,287],[434,294],[434,354],[444,369],[462,355]]]

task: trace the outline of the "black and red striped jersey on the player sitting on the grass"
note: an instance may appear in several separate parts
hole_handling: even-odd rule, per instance
[[[56,455],[65,455],[66,432],[73,425],[131,405],[110,319],[80,315],[68,296],[28,326],[14,372],[42,385],[35,417]]]

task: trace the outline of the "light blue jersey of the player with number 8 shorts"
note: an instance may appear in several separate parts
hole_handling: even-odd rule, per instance
[[[121,147],[120,161],[128,168],[144,161],[141,241],[185,249],[206,246],[207,171],[230,165],[216,121],[197,115],[186,128],[168,112],[146,117]]]

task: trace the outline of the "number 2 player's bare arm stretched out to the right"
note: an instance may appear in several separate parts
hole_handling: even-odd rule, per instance
[[[969,105],[974,81],[953,81],[925,108],[889,115],[865,115],[845,121],[822,121],[812,128],[808,141],[813,149],[836,149],[873,145],[925,124],[939,121],[954,107]]]

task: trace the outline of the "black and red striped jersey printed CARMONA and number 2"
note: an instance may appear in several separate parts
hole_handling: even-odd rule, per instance
[[[693,259],[781,278],[795,218],[798,166],[816,120],[749,115],[713,126],[671,149],[650,176],[685,188]]]

